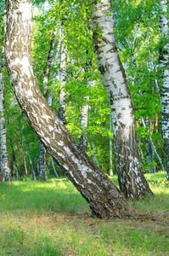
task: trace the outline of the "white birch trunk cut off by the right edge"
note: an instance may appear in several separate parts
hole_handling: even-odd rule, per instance
[[[162,73],[161,84],[161,129],[166,155],[166,178],[169,180],[169,32],[168,32],[168,1],[161,0],[161,49],[160,64]]]

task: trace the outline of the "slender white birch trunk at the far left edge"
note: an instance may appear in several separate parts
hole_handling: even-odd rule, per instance
[[[0,146],[1,146],[1,169],[0,174],[4,177],[5,181],[10,181],[10,168],[8,163],[8,151],[4,118],[4,47],[2,57],[0,59]]]

